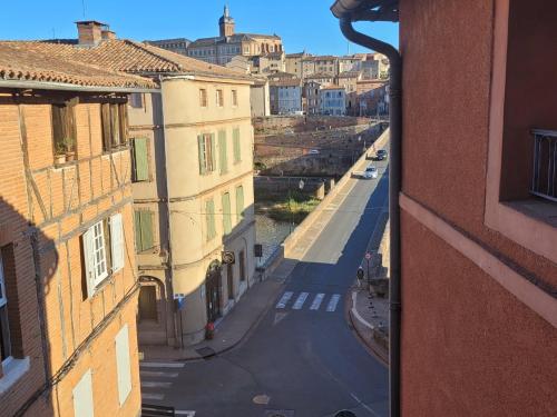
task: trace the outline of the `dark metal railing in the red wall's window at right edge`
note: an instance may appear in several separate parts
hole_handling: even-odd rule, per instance
[[[534,172],[530,192],[557,202],[557,131],[532,130]]]

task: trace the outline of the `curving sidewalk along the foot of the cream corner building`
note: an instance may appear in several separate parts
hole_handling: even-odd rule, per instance
[[[145,361],[197,360],[222,354],[238,345],[247,332],[257,325],[263,315],[273,306],[284,281],[271,277],[254,284],[216,326],[215,337],[185,349],[169,346],[139,346]]]

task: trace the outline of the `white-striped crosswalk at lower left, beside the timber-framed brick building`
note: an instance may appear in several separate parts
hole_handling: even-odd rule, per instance
[[[162,401],[178,377],[180,363],[146,363],[139,364],[141,380],[141,398],[150,401]]]

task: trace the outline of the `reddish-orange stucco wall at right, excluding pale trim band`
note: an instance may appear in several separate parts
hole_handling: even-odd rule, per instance
[[[403,193],[557,286],[557,265],[485,225],[495,1],[400,8]],[[557,414],[555,327],[404,211],[402,297],[404,416]]]

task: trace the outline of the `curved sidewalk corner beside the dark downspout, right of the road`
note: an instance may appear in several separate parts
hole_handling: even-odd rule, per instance
[[[346,294],[349,316],[362,341],[385,364],[389,364],[389,339],[380,329],[389,327],[389,299],[371,297],[367,285],[358,284]],[[388,330],[385,330],[388,331]],[[382,337],[383,336],[383,337]]]

